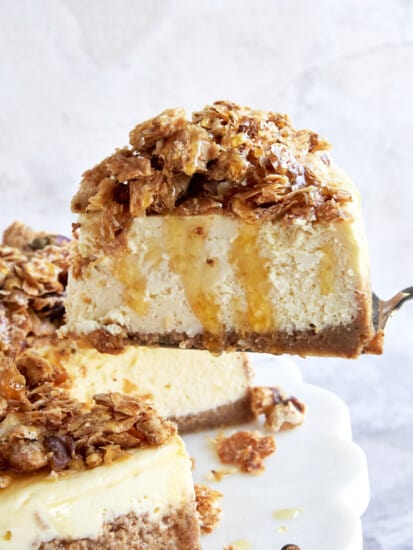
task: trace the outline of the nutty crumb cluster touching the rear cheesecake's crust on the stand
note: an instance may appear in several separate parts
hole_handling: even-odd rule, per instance
[[[265,415],[265,427],[278,432],[303,423],[305,405],[279,387],[257,386],[251,390],[251,411],[257,418]]]

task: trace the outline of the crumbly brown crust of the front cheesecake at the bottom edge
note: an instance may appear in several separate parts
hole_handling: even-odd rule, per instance
[[[103,526],[96,539],[45,542],[40,550],[198,550],[199,522],[195,502],[190,502],[164,516],[159,523],[148,515],[129,513]]]

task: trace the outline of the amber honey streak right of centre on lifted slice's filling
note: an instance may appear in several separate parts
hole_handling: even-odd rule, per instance
[[[234,323],[245,332],[269,332],[274,328],[273,306],[269,300],[272,285],[264,259],[260,258],[259,225],[240,224],[229,259],[245,292],[246,310],[233,300]]]

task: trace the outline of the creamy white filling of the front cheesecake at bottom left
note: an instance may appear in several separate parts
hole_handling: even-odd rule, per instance
[[[29,550],[59,539],[95,539],[103,523],[134,512],[159,522],[194,499],[182,440],[134,450],[111,465],[28,476],[1,491],[0,548]]]

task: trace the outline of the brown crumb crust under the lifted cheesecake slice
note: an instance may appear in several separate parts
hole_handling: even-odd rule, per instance
[[[237,334],[226,333],[223,338],[216,339],[207,333],[188,337],[185,333],[169,332],[167,334],[111,335],[106,330],[95,330],[87,335],[87,340],[103,353],[119,353],[126,344],[145,346],[173,346],[184,349],[209,349],[210,351],[252,351],[281,355],[314,355],[355,358],[367,347],[374,332],[368,321],[367,313],[362,313],[347,325],[328,327],[319,332],[316,330],[287,332],[272,332],[269,334]],[[74,335],[74,337],[76,337]],[[375,347],[375,353],[380,350]]]

